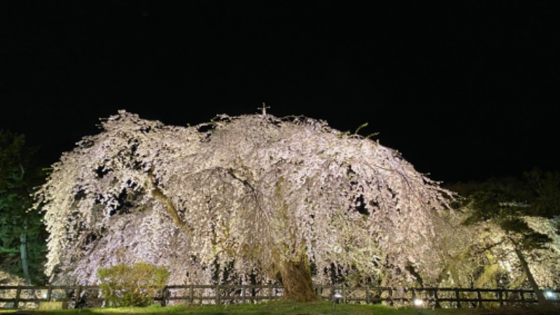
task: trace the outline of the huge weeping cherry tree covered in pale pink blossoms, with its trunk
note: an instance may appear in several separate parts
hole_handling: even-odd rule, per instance
[[[256,276],[313,300],[311,276],[329,281],[332,268],[435,281],[447,193],[397,151],[321,120],[174,127],[120,111],[62,155],[36,197],[53,282],[93,283],[99,267],[143,259],[178,284]]]

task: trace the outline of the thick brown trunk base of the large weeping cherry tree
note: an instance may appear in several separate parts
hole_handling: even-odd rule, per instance
[[[299,262],[283,262],[280,268],[284,299],[310,302],[317,300],[317,295],[311,282],[309,262],[302,259]]]

